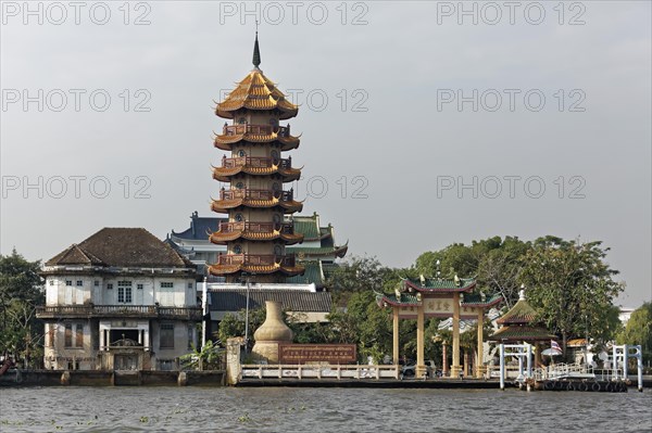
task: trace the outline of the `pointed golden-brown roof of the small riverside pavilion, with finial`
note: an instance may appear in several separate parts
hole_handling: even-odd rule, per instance
[[[502,327],[491,335],[489,341],[536,342],[556,339],[555,335],[537,322],[537,311],[525,300],[525,291],[521,291],[518,302],[500,319]]]

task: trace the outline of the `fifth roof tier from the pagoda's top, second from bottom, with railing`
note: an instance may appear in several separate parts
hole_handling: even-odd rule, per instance
[[[238,239],[248,241],[275,241],[280,239],[286,245],[303,241],[303,234],[296,233],[292,224],[287,222],[222,222],[220,230],[211,233],[209,240],[216,244],[226,244]]]

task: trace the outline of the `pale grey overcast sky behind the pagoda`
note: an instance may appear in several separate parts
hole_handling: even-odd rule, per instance
[[[648,1],[25,4],[2,2],[2,254],[211,215],[213,101],[258,10],[261,68],[301,105],[294,191],[351,255],[579,237],[611,247],[620,304],[652,298]]]

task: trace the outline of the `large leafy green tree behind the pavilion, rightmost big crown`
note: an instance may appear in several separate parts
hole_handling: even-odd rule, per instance
[[[604,262],[607,251],[601,242],[546,237],[522,258],[528,301],[539,319],[562,336],[564,352],[570,336],[590,332],[600,342],[614,336],[610,309],[624,288],[612,279],[618,272]]]

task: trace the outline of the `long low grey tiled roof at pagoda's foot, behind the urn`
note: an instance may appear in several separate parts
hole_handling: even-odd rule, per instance
[[[239,311],[247,307],[247,289],[214,290],[211,296],[211,311]],[[328,292],[304,290],[256,290],[249,291],[249,308],[264,308],[265,301],[277,301],[283,309],[302,313],[330,313],[331,300]]]

